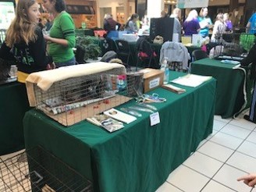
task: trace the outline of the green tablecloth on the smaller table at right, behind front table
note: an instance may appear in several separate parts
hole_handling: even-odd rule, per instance
[[[192,63],[191,73],[213,76],[217,80],[215,114],[222,118],[232,117],[244,105],[244,79],[241,69],[215,59],[201,59]],[[247,98],[251,101],[251,80],[247,78]]]

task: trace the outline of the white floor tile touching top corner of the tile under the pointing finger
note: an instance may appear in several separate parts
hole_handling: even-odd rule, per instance
[[[201,148],[199,148],[198,152],[218,159],[221,162],[226,162],[226,160],[233,154],[232,149],[223,147],[219,144],[215,144],[211,141],[208,141]]]

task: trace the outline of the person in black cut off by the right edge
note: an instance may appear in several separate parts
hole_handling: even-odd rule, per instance
[[[251,48],[246,58],[244,58],[240,64],[241,66],[248,66],[251,64],[251,78],[256,79],[256,44]],[[249,116],[245,115],[244,119],[256,123],[256,84],[254,82],[254,91],[251,98],[251,108]]]

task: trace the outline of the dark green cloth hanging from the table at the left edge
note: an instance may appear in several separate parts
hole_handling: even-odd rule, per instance
[[[24,148],[23,116],[29,110],[25,84],[0,85],[0,155]]]

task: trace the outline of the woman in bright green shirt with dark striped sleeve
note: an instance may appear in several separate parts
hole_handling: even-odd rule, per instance
[[[72,17],[65,11],[64,0],[43,0],[43,3],[45,9],[55,17],[50,34],[44,34],[44,39],[48,41],[49,55],[56,67],[75,65],[75,25]]]

